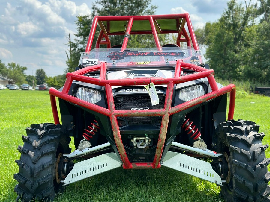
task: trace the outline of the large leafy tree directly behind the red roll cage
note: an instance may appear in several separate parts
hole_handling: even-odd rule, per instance
[[[88,16],[77,16],[77,34],[74,42],[67,38],[69,51],[67,54],[67,72],[73,72],[78,65],[81,53],[84,51],[91,24],[95,15],[99,16],[131,16],[131,15],[152,15],[155,13],[157,6],[151,5],[151,0],[98,0],[92,5],[92,14]],[[98,33],[97,27],[96,33]],[[97,40],[98,34],[94,37],[94,42]],[[161,37],[161,41],[166,41],[167,37]],[[123,36],[110,36],[112,45],[122,44]],[[128,47],[155,47],[153,36],[141,35],[130,36]],[[95,47],[93,43],[92,48]]]

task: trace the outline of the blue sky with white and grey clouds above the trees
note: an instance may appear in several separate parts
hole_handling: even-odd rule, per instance
[[[44,69],[56,76],[67,68],[67,36],[76,33],[76,16],[91,14],[95,0],[0,1],[0,59],[26,66],[26,75]],[[152,0],[155,14],[189,13],[193,27],[220,18],[227,0]]]

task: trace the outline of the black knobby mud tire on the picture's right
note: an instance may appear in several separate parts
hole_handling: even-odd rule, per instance
[[[265,135],[258,131],[259,125],[240,119],[218,125],[217,152],[226,152],[229,157],[230,181],[220,187],[227,201],[270,201],[270,158],[265,158],[268,144],[262,144]],[[224,179],[227,176],[225,172]]]

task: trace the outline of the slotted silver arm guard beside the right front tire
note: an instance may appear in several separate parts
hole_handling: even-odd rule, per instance
[[[223,186],[220,176],[212,169],[211,164],[206,161],[168,151],[161,165]]]

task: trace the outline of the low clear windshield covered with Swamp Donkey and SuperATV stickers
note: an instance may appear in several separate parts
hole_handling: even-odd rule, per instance
[[[205,63],[201,51],[191,48],[181,49],[180,47],[162,48],[130,48],[121,52],[121,49],[93,49],[90,52],[83,52],[79,65],[91,66],[107,63],[107,69],[121,66],[130,67],[159,67],[175,66],[176,60],[182,60],[185,63],[202,64]]]

